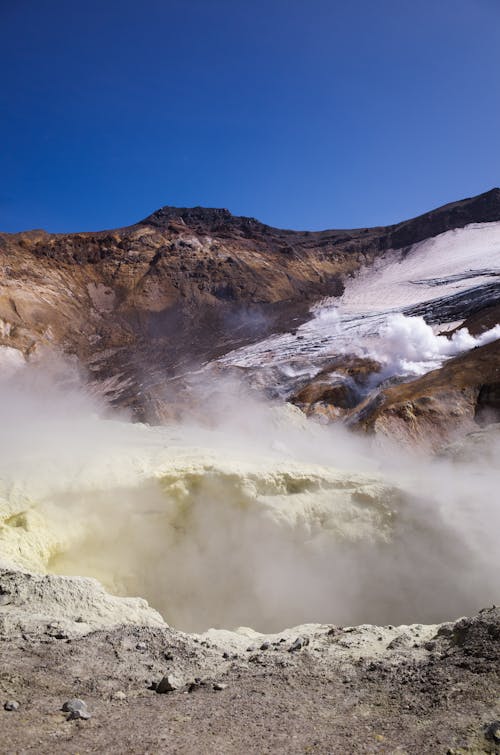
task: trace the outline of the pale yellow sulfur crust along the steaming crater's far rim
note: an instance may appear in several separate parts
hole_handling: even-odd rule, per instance
[[[126,486],[135,492],[144,489],[147,497],[151,485],[157,485],[164,508],[156,508],[154,513],[163,515],[164,526],[174,530],[182,526],[200,496],[223,496],[226,506],[236,510],[256,507],[275,525],[300,530],[305,537],[321,530],[339,539],[387,539],[398,503],[397,490],[382,482],[315,465],[221,460],[201,449],[183,449],[170,452],[156,469],[148,466],[143,463],[142,472],[137,469],[132,476],[129,468]],[[88,480],[81,481],[84,498],[92,491],[110,489],[109,480],[99,480],[95,472],[89,470]],[[112,479],[116,481],[116,475]],[[68,487],[72,501],[68,508],[59,491],[57,503],[47,491],[38,500],[20,495],[0,499],[0,556],[4,561],[44,573],[51,561],[95,526],[89,509],[83,504],[81,509],[75,508],[74,480]],[[118,491],[121,488],[116,487]],[[109,504],[117,514],[118,499],[119,492],[117,500]],[[143,512],[139,508],[136,513]]]

